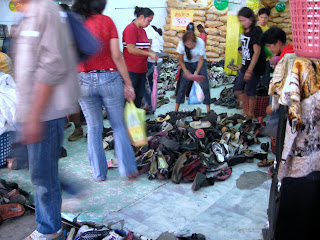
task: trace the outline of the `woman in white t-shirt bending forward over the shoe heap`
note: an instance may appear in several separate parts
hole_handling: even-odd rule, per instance
[[[185,93],[188,84],[193,81],[189,80],[194,75],[205,76],[205,81],[200,82],[204,100],[203,103],[207,106],[207,112],[210,111],[210,89],[209,79],[207,73],[207,61],[204,59],[205,56],[205,45],[201,38],[196,37],[193,31],[187,31],[179,42],[177,47],[179,53],[179,65],[181,66],[182,72],[180,77],[180,86],[177,91],[176,108],[178,112],[179,106],[185,101]]]

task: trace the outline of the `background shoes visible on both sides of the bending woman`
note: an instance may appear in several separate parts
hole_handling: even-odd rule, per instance
[[[178,62],[175,60],[165,61],[161,66],[159,83],[163,83],[161,89],[174,91],[176,89],[176,74]],[[212,88],[228,85],[234,82],[235,76],[228,76],[224,72],[224,61],[208,63],[208,77]]]

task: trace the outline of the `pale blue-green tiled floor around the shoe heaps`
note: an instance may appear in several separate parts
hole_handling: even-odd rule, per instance
[[[223,87],[211,89],[211,97],[219,97]],[[167,92],[170,96],[172,92]],[[174,99],[156,110],[158,114],[173,111]],[[198,105],[205,112],[204,105]],[[181,105],[181,109],[192,110],[195,105]],[[232,114],[239,110],[227,109],[212,105],[217,113]],[[108,121],[105,121],[108,127]],[[65,131],[65,139],[73,128]],[[268,138],[260,139],[267,142]],[[137,181],[120,178],[116,169],[108,172],[108,180],[95,182],[90,176],[87,156],[86,138],[76,142],[65,140],[68,157],[60,159],[61,179],[78,187],[82,187],[88,196],[74,202],[63,217],[72,220],[80,214],[79,220],[90,220],[109,223],[125,220],[125,229],[140,233],[149,238],[157,238],[162,232],[176,234],[204,234],[209,240],[258,240],[262,239],[261,229],[267,222],[267,205],[270,179],[266,168],[257,167],[254,163],[243,163],[233,167],[231,177],[224,182],[216,182],[214,186],[201,188],[192,192],[191,184],[173,184],[170,181],[148,180],[141,176]],[[259,146],[254,146],[259,148]],[[113,158],[113,151],[106,152],[107,158]],[[270,151],[269,158],[273,154]],[[264,181],[253,189],[239,189],[237,179],[248,172],[261,171],[258,174]],[[259,173],[259,172],[258,172]],[[249,182],[255,176],[246,177]],[[26,170],[9,171],[0,169],[0,177],[19,183],[19,186],[33,192]],[[252,178],[252,179],[249,179]],[[64,200],[68,199],[65,193]]]

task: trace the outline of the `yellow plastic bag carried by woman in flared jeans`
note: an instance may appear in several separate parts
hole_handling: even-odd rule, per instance
[[[138,109],[133,102],[127,102],[124,108],[124,119],[133,146],[140,147],[147,144],[146,113]]]

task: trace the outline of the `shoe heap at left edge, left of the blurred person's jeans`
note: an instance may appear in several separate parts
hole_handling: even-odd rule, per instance
[[[0,179],[0,223],[23,215],[25,209],[22,204],[26,202],[27,196],[18,184]]]

